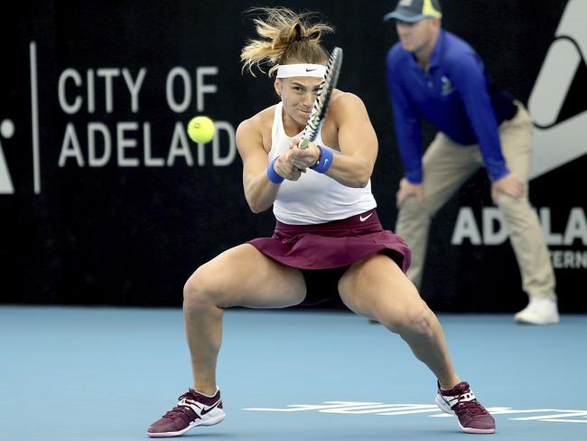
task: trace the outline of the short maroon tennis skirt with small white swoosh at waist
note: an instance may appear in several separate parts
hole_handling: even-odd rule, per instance
[[[378,252],[393,258],[404,272],[410,266],[410,249],[399,236],[383,230],[375,209],[317,225],[278,220],[271,238],[248,243],[269,258],[300,269],[349,267]]]

